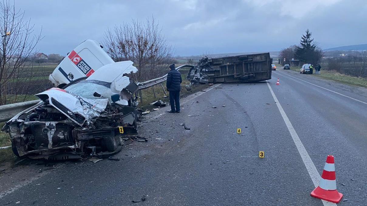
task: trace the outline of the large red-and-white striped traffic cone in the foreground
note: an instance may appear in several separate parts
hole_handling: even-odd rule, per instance
[[[337,190],[333,155],[327,156],[319,186],[311,192],[311,196],[334,203],[342,199],[343,194]]]

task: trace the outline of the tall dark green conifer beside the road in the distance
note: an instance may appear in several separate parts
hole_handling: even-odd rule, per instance
[[[312,33],[307,29],[306,34],[301,37],[300,46],[296,47],[295,57],[301,60],[301,62],[310,63],[309,61],[314,61],[313,57],[317,45],[313,42],[311,36]]]

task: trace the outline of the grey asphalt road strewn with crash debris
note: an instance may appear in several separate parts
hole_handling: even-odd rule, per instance
[[[335,156],[346,199],[338,205],[366,205],[367,90],[282,69],[272,77],[320,174]],[[146,116],[139,133],[149,141],[124,146],[120,161],[58,163],[8,190],[0,205],[323,205],[310,196],[315,186],[268,83],[215,85],[182,102],[179,114]]]

